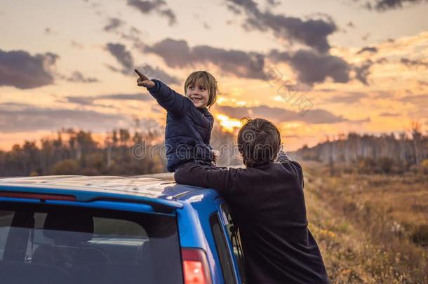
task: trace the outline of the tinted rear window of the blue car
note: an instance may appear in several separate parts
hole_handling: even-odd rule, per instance
[[[4,283],[182,283],[170,215],[0,203]]]

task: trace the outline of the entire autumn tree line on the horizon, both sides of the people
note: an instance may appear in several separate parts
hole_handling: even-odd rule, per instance
[[[0,176],[29,175],[145,175],[166,171],[163,130],[119,128],[102,141],[90,131],[59,130],[39,143],[25,141],[0,151]],[[242,165],[236,137],[215,126],[211,135],[220,150],[217,165]],[[305,145],[292,156],[297,160],[346,163],[360,173],[403,173],[417,166],[428,170],[428,135],[413,123],[410,134],[349,133],[315,147]]]

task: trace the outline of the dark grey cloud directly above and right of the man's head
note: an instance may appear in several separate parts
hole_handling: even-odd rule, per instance
[[[297,72],[297,79],[309,86],[326,81],[327,77],[337,83],[347,83],[352,69],[342,58],[311,50],[298,50],[293,54],[272,50],[268,57],[273,62],[288,62]]]

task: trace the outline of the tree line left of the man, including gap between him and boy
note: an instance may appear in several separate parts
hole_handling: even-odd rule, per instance
[[[39,143],[25,141],[10,151],[0,151],[0,176],[36,175],[146,175],[166,172],[164,133],[158,128],[119,128],[105,134],[102,141],[91,131],[61,129]],[[233,135],[220,127],[213,129],[213,147],[232,144]],[[239,161],[223,151],[218,165]]]

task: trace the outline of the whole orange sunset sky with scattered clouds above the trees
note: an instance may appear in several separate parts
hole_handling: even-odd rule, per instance
[[[0,8],[0,149],[65,127],[161,127],[134,68],[182,93],[208,70],[215,123],[281,128],[294,150],[428,123],[428,1],[12,1]]]

